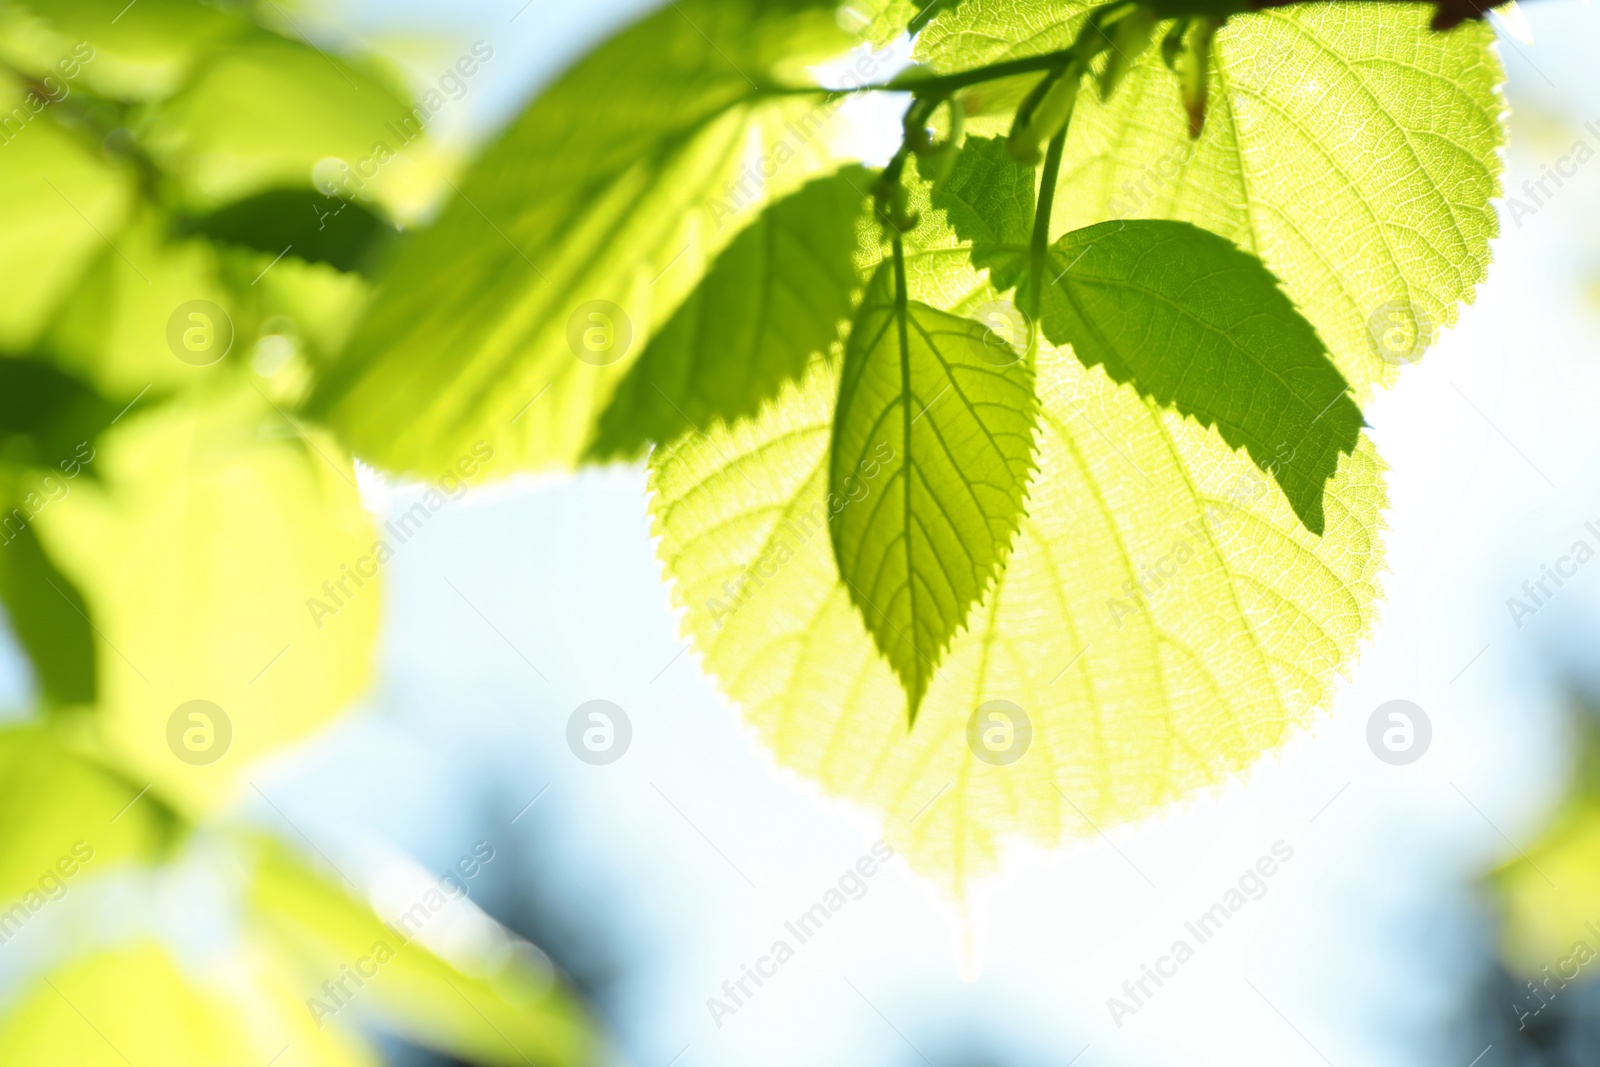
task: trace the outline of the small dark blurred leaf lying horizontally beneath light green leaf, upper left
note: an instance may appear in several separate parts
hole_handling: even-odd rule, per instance
[[[211,214],[186,219],[181,232],[214,242],[365,270],[395,229],[354,200],[315,189],[270,189]]]

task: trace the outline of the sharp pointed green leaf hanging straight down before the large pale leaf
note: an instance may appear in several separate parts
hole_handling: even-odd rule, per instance
[[[914,723],[1016,534],[1037,419],[1034,374],[1011,346],[896,301],[891,264],[878,269],[845,347],[829,528]]]

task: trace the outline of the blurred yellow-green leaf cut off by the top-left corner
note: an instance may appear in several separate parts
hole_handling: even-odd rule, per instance
[[[248,30],[198,0],[13,0],[0,11],[0,56],[35,77],[147,101],[171,94],[202,50]]]

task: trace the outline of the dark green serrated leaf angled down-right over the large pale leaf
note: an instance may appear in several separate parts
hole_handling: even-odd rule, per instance
[[[1187,222],[1090,226],[1051,246],[1040,318],[1086,366],[1246,448],[1323,531],[1323,486],[1362,411],[1259,259]]]

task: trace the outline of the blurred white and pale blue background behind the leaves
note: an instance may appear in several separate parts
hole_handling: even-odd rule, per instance
[[[493,45],[430,130],[448,171],[650,6],[366,0],[294,18],[418,88],[474,42]],[[1518,194],[1574,141],[1600,147],[1600,10],[1534,0],[1499,29],[1506,187]],[[893,107],[850,120],[862,144],[893,146]],[[1600,544],[1586,533],[1600,528],[1597,205],[1600,160],[1533,214],[1502,210],[1477,301],[1368,410],[1390,466],[1392,573],[1330,717],[1246,782],[1149,824],[1018,849],[962,905],[890,861],[720,1024],[707,998],[877,830],[779,773],[698,672],[654,563],[640,469],[518,478],[432,518],[387,568],[373,688],[261,765],[214,825],[280,838],[374,902],[488,843],[470,905],[440,937],[470,942],[482,909],[538,944],[589,998],[618,1062],[638,1067],[1600,1062],[1600,960],[1526,984],[1576,937],[1600,949],[1582,931],[1600,929],[1600,814],[1586,792],[1600,777],[1594,761],[1584,773],[1600,723],[1600,561],[1534,614],[1507,609],[1576,539]],[[421,493],[365,470],[360,486],[381,517]],[[34,704],[14,643],[0,691],[14,715]],[[568,717],[590,699],[630,718],[616,763],[566,745]],[[1432,725],[1403,766],[1366,739],[1392,699]],[[1293,857],[1264,896],[1114,1019],[1107,998],[1277,843]],[[237,917],[205,829],[186,856],[154,881],[117,875],[93,899],[69,896],[26,944],[0,949],[0,1013],[50,966],[51,944],[107,912],[139,912],[205,973]],[[446,1062],[392,1038],[382,1053]]]

